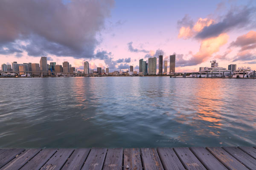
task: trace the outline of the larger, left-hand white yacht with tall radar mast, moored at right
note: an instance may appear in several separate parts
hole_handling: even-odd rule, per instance
[[[216,60],[210,61],[211,67],[204,67],[198,72],[198,77],[226,77],[230,76],[231,71],[227,68],[219,67]]]

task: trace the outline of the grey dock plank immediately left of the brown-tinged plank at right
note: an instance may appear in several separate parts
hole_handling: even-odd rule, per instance
[[[227,168],[204,147],[190,147],[190,150],[207,170],[227,170]]]

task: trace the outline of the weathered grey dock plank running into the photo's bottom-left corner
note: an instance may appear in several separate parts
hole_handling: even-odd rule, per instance
[[[40,150],[41,149],[26,150],[25,152],[23,152],[19,156],[17,156],[15,159],[10,161],[8,164],[6,164],[4,167],[2,167],[1,170],[18,170],[18,169],[20,169],[20,167],[22,167],[30,159],[32,159],[36,154],[38,154]]]

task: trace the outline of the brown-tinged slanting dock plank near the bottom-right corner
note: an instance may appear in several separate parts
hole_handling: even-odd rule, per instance
[[[209,150],[209,152],[221,161],[221,163],[229,170],[248,170],[247,167],[241,164],[221,147],[207,147],[207,150]]]

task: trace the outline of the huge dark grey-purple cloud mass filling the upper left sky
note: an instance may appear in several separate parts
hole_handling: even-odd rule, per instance
[[[1,0],[0,52],[93,58],[113,0]],[[17,10],[17,8],[19,10]],[[23,42],[20,47],[20,42]]]

